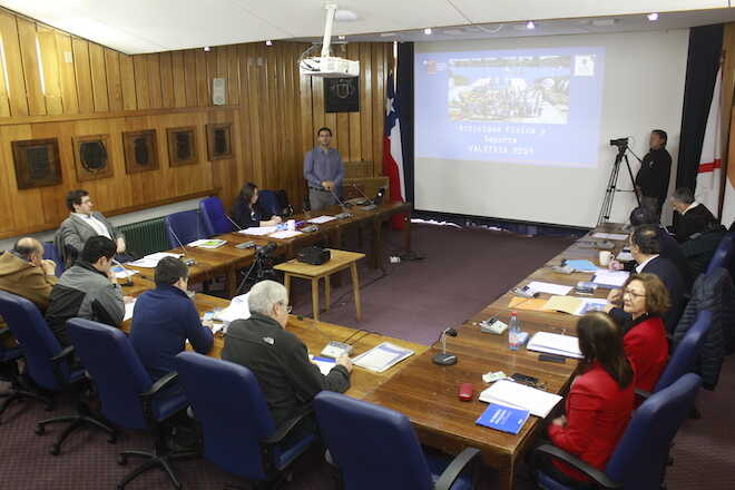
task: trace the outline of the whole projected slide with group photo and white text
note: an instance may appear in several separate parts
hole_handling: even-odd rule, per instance
[[[416,157],[595,167],[605,49],[416,53]]]

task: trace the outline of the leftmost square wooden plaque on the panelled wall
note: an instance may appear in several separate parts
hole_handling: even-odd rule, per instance
[[[57,138],[12,141],[11,146],[18,189],[61,184]]]

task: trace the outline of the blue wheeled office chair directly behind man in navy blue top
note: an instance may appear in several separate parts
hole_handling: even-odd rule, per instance
[[[170,461],[197,455],[196,451],[170,452],[166,445],[164,424],[187,408],[186,398],[177,386],[176,373],[154,383],[120,330],[85,318],[67,322],[69,339],[91,376],[101,401],[101,413],[110,422],[131,430],[148,430],[156,438],[154,452],[122,451],[119,464],[128,457],[147,461],[130,471],[118,489],[151,468],[161,468],[175,488],[182,483],[174,474]]]

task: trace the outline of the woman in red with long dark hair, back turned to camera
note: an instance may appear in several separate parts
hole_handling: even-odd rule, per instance
[[[566,415],[549,425],[555,445],[604,470],[633,412],[634,373],[623,350],[623,333],[609,315],[588,313],[577,322],[579,374],[566,400]],[[545,469],[556,480],[585,489],[588,478],[553,460]]]

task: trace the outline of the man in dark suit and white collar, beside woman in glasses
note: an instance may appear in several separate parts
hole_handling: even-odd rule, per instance
[[[672,333],[682,316],[686,306],[684,294],[686,292],[684,280],[676,268],[676,265],[668,258],[660,256],[658,245],[658,231],[654,225],[638,226],[630,235],[630,254],[638,263],[635,268],[636,274],[654,274],[661,280],[668,291],[668,298],[672,306],[664,315],[666,331]],[[610,304],[618,304],[623,300],[620,290],[612,290],[608,295]],[[612,308],[610,315],[620,324],[629,321],[629,315],[623,308]]]

